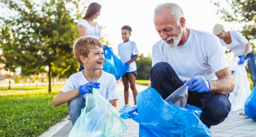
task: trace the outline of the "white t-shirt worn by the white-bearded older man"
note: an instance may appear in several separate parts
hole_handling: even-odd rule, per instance
[[[197,75],[216,80],[215,72],[229,66],[217,36],[193,29],[186,43],[175,48],[158,41],[153,46],[152,67],[158,62],[169,63],[181,81]]]

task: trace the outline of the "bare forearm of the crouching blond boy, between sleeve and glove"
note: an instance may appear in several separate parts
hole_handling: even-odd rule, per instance
[[[67,92],[59,91],[59,93],[54,97],[52,101],[53,106],[56,107],[66,102],[69,102],[70,100],[74,99],[78,95],[79,95],[78,88],[75,88]]]

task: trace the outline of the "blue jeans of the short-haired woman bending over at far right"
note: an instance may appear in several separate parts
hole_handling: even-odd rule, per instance
[[[252,79],[252,82],[254,83],[254,87],[255,87],[256,86],[256,63],[255,63],[254,52],[248,53],[245,59],[249,59],[248,60],[249,72],[251,74],[251,79]]]

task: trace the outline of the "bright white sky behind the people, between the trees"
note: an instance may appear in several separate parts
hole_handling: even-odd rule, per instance
[[[210,0],[91,0],[87,4],[91,2],[97,2],[102,6],[97,23],[106,27],[102,30],[102,34],[108,35],[111,43],[109,46],[116,54],[118,44],[123,42],[121,28],[123,25],[130,25],[132,27],[130,41],[137,44],[140,53],[151,55],[153,45],[160,40],[153,23],[154,9],[164,2],[175,2],[182,8],[187,28],[212,33],[213,26],[218,23],[223,24],[225,30],[234,27],[220,19],[216,14],[218,7]]]

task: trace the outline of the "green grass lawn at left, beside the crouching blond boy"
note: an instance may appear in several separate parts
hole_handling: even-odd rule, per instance
[[[68,115],[68,105],[54,107],[52,99],[62,86],[53,85],[52,93],[48,86],[14,87],[9,90],[14,94],[0,95],[0,136],[39,136],[60,122]],[[20,93],[24,90],[29,92]]]

